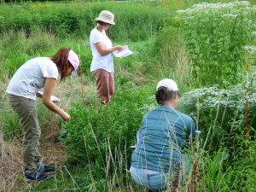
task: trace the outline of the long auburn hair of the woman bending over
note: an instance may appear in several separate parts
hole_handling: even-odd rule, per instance
[[[55,53],[55,55],[49,57],[50,60],[56,64],[58,71],[61,74],[61,81],[66,79],[67,70],[69,67],[72,67],[68,61],[69,50],[70,49],[67,47],[62,47]]]

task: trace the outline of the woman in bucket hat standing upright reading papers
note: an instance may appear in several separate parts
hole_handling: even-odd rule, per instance
[[[113,79],[113,51],[124,49],[123,46],[112,46],[106,31],[110,26],[115,25],[114,15],[108,10],[102,10],[96,18],[96,27],[90,32],[90,48],[93,59],[90,65],[90,72],[96,79],[97,96],[103,104],[107,104],[114,91]]]

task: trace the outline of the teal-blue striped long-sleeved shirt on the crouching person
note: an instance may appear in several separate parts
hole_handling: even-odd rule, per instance
[[[182,148],[195,137],[195,123],[188,115],[161,105],[143,117],[137,131],[131,166],[155,172],[170,172],[182,163]]]

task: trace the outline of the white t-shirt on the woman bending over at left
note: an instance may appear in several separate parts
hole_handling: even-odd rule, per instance
[[[44,87],[45,78],[58,79],[58,68],[49,57],[26,61],[10,80],[6,92],[36,100],[38,90]]]

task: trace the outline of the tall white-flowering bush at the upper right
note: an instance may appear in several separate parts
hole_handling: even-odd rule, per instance
[[[180,30],[197,84],[238,83],[246,44],[253,38],[256,6],[248,2],[201,3],[179,10]]]

